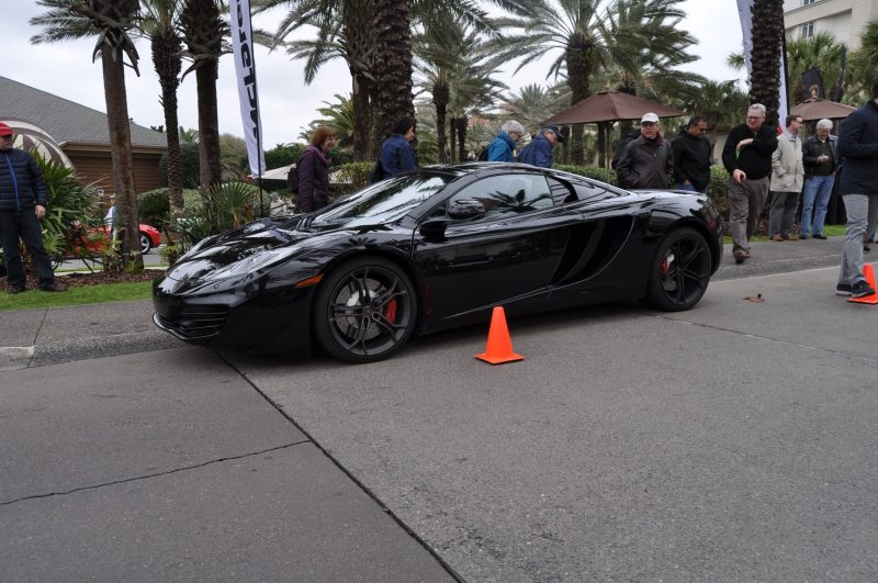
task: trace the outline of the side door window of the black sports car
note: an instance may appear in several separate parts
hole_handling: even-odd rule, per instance
[[[540,175],[492,176],[470,184],[448,202],[466,200],[481,202],[488,220],[553,205],[549,184]]]

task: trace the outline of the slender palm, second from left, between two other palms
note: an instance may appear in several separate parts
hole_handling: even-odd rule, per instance
[[[180,161],[180,134],[177,117],[177,87],[182,68],[183,48],[177,23],[180,15],[180,0],[143,0],[142,29],[149,37],[153,49],[153,65],[161,86],[161,108],[165,112],[165,127],[168,141],[168,197],[176,213],[183,211],[183,172]]]

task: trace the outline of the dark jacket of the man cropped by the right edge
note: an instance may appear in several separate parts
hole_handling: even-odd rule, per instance
[[[838,133],[838,155],[844,158],[841,194],[878,191],[878,105],[875,100],[845,119]]]

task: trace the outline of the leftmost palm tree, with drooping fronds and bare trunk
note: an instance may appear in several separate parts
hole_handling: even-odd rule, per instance
[[[113,187],[116,192],[122,233],[122,262],[126,270],[142,271],[140,238],[137,224],[137,194],[134,189],[134,161],[131,153],[131,124],[125,92],[125,66],[137,69],[137,49],[128,36],[138,15],[137,0],[37,0],[49,10],[31,19],[43,26],[31,42],[53,43],[98,35],[92,59],[101,57]],[[125,63],[125,57],[128,63]]]

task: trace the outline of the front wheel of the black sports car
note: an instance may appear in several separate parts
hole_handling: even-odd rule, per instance
[[[314,300],[315,336],[335,358],[374,362],[408,340],[417,303],[412,280],[396,265],[380,257],[358,257],[320,282]]]

